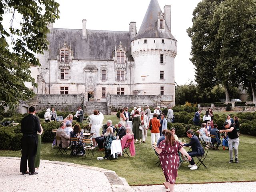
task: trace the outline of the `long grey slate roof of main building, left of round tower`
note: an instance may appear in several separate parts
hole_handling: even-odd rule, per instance
[[[70,46],[76,60],[113,60],[115,46],[118,48],[120,41],[128,51],[128,61],[131,56],[131,40],[129,32],[86,30],[87,38],[82,38],[82,29],[53,28],[48,34],[50,42],[50,59],[56,59],[59,48],[64,44]]]

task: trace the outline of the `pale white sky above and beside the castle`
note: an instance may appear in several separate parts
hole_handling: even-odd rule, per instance
[[[186,29],[192,26],[192,12],[201,0],[158,0],[162,12],[165,5],[172,6],[172,34],[178,41],[175,58],[175,82],[179,85],[194,80],[194,67],[190,62],[191,40]],[[60,19],[53,27],[86,28],[91,30],[129,31],[131,21],[136,22],[137,32],[150,0],[57,0]]]

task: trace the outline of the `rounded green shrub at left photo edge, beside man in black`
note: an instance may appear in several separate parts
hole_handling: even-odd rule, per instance
[[[14,133],[8,127],[0,127],[0,149],[9,149]]]

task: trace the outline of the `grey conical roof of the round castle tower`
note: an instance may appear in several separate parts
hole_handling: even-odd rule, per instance
[[[156,22],[158,20],[158,13],[162,10],[157,0],[151,0],[148,6],[148,10],[144,16],[139,32],[136,34],[133,40],[141,38],[169,38],[176,40],[170,32],[167,24],[165,23],[164,30],[158,30]]]

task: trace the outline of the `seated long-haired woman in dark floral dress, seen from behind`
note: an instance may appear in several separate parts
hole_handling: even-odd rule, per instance
[[[81,131],[80,125],[75,124],[74,130],[70,132],[70,137],[78,138],[78,141],[71,142],[71,155],[72,156],[83,156],[84,146],[82,144],[83,133]]]

